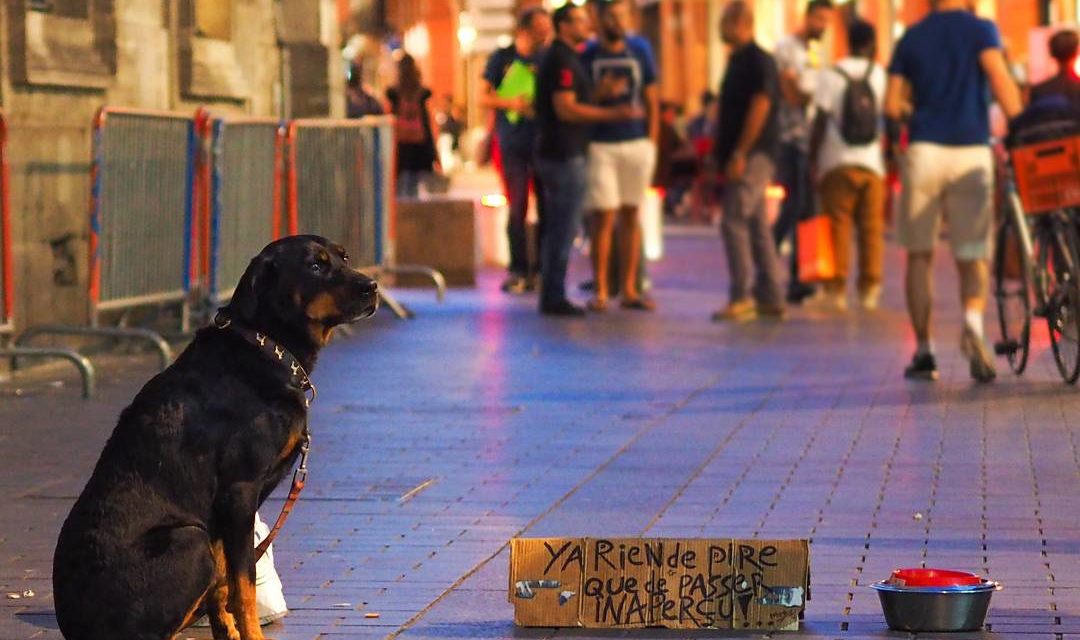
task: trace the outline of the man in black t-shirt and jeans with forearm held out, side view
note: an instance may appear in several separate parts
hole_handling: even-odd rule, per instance
[[[567,2],[552,16],[556,39],[540,63],[537,94],[537,173],[544,191],[548,219],[541,239],[540,313],[583,316],[566,298],[566,267],[573,236],[581,226],[585,199],[585,150],[589,125],[642,118],[639,107],[596,107],[589,104],[592,83],[577,47],[589,38],[589,17]]]

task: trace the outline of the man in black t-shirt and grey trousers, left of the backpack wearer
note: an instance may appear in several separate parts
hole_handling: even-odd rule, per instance
[[[720,231],[731,284],[727,308],[713,319],[781,319],[781,270],[765,213],[779,145],[777,64],[754,42],[754,14],[744,0],[725,8],[720,37],[731,56],[720,83],[715,151],[725,178]]]

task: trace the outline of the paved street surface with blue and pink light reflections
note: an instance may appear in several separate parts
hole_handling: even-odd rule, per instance
[[[308,488],[274,545],[292,612],[268,637],[686,637],[512,624],[510,537],[647,534],[810,537],[812,600],[785,636],[906,637],[866,585],[926,563],[1005,586],[991,632],[950,637],[1080,638],[1080,393],[1044,332],[1027,375],[973,386],[943,259],[942,381],[907,383],[895,251],[879,312],[719,326],[718,240],[667,240],[656,314],[542,318],[486,273],[443,305],[403,292],[415,321],[380,314],[335,342],[313,376]],[[59,638],[56,532],[151,373],[122,364],[87,403],[67,378],[0,385],[0,590],[33,593],[2,600],[2,639]]]

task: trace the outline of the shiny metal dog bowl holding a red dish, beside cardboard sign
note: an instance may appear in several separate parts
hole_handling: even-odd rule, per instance
[[[904,587],[887,581],[870,585],[881,599],[890,629],[897,631],[976,631],[986,619],[997,582],[943,587]]]

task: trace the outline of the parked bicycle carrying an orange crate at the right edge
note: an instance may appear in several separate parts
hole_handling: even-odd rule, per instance
[[[1080,378],[1080,233],[1070,208],[1077,203],[1063,199],[1069,191],[1062,190],[1061,180],[1080,180],[1074,166],[1080,138],[1026,145],[1010,155],[1003,167],[1004,216],[994,258],[1001,331],[995,352],[1016,375],[1023,373],[1030,355],[1031,318],[1044,318],[1057,370],[1074,384]],[[1017,167],[1023,172],[1020,179]]]

